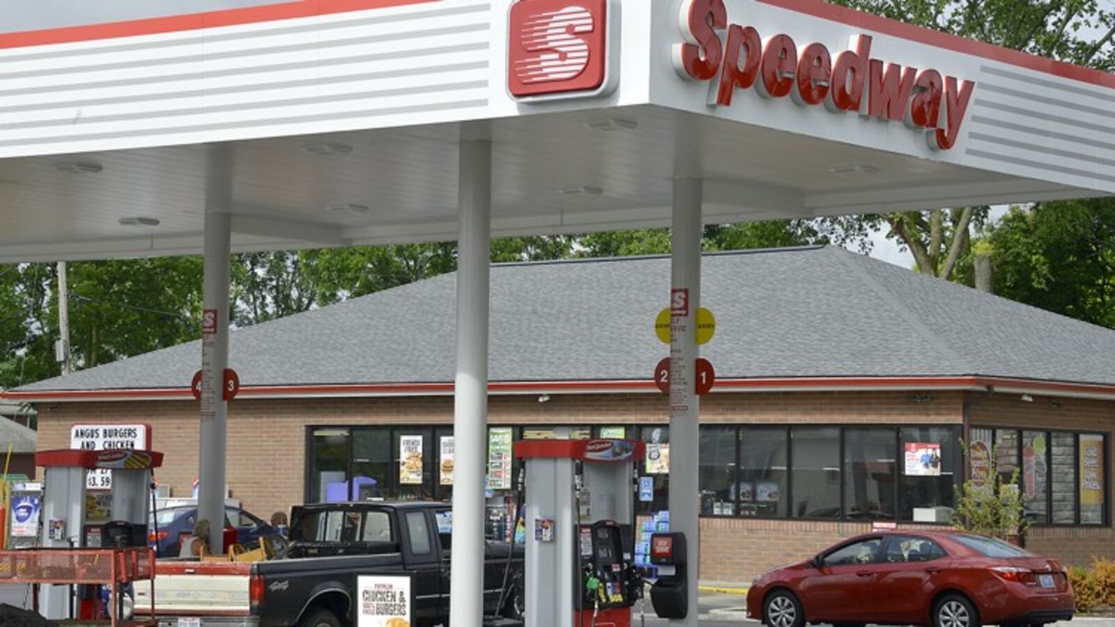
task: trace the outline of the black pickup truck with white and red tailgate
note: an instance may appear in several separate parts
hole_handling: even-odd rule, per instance
[[[446,503],[294,508],[290,544],[261,562],[159,560],[155,614],[168,627],[355,627],[357,577],[408,573],[418,627],[448,625],[453,513]],[[486,542],[484,611],[522,620],[523,547]],[[136,587],[136,611],[151,611]]]

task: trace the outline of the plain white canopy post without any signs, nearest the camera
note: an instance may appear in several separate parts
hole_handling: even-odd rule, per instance
[[[449,625],[484,616],[484,472],[487,457],[488,284],[492,144],[462,139],[457,215],[457,377],[453,437]]]

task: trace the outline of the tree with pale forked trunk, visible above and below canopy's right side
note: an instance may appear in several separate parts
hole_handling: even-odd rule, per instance
[[[833,0],[886,18],[988,44],[1111,71],[1115,69],[1115,8],[1097,0]],[[1098,33],[1098,36],[1097,36]],[[910,251],[919,272],[961,280],[971,231],[988,208],[886,212],[862,225],[885,228]]]

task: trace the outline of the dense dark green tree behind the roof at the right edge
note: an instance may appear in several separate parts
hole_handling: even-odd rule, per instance
[[[986,241],[997,295],[1115,328],[1115,199],[1011,208]]]

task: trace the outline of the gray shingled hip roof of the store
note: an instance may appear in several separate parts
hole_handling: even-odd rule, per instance
[[[649,379],[667,258],[492,270],[492,380]],[[1115,384],[1115,331],[838,248],[706,255],[704,347],[719,378],[981,375]],[[446,274],[232,334],[246,386],[432,383],[454,376]],[[20,390],[184,387],[188,343]]]

